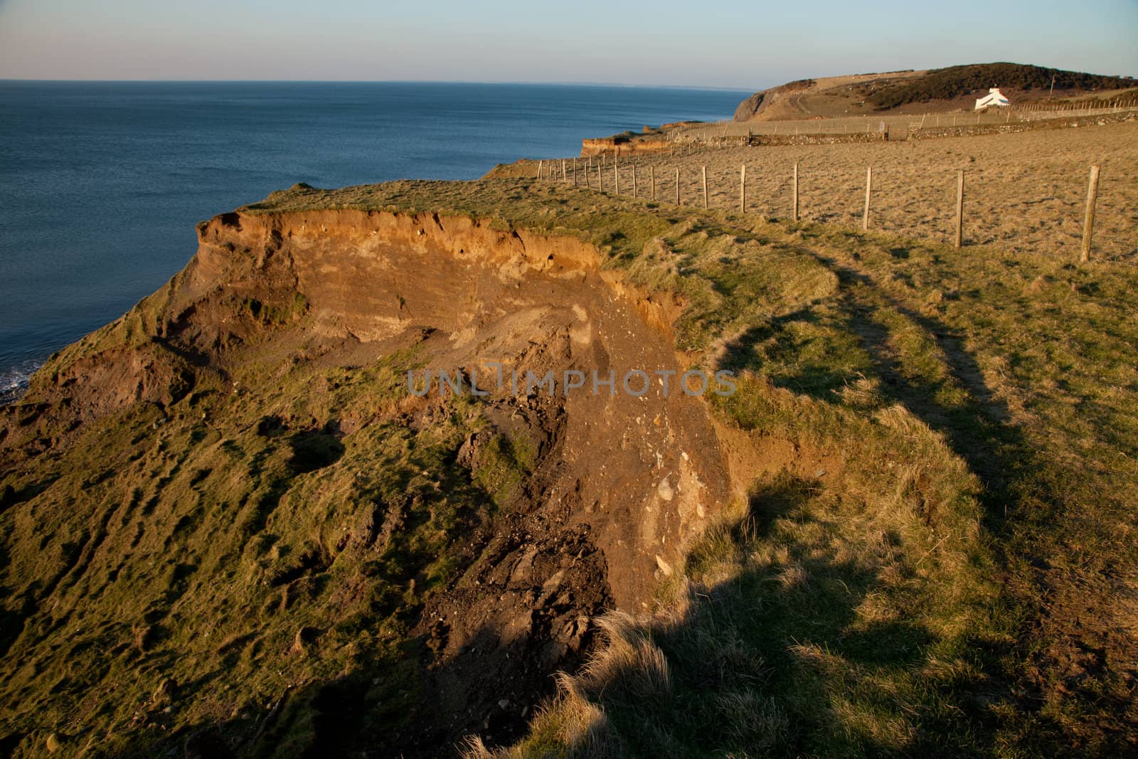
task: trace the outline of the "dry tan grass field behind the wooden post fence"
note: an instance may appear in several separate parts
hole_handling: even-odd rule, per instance
[[[593,166],[596,160],[592,159]],[[634,162],[620,163],[620,189],[630,193]],[[748,212],[778,218],[791,215],[791,178],[798,164],[800,217],[857,228],[866,168],[872,166],[871,228],[940,242],[953,239],[956,178],[964,170],[965,244],[1065,261],[1079,255],[1092,163],[1102,165],[1095,255],[1133,257],[1138,251],[1135,123],[865,145],[706,148],[682,157],[635,159],[641,197],[649,193],[649,170],[654,167],[657,197],[671,203],[674,172],[679,168],[681,203],[702,205],[700,168],[707,166],[710,206],[729,209],[739,207],[740,167],[747,164]],[[583,167],[584,159],[577,165]],[[604,187],[611,191],[612,159],[604,159]],[[502,171],[520,174],[534,167],[527,163]],[[595,168],[589,181],[595,188]]]

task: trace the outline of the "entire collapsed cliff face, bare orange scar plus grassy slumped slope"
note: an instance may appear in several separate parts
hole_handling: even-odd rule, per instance
[[[685,369],[681,307],[576,238],[461,216],[204,223],[170,286],[2,412],[5,469],[27,472],[3,494],[18,624],[2,643],[20,662],[8,696],[99,708],[106,678],[130,671],[143,695],[119,694],[107,718],[130,737],[115,750],[218,710],[248,746],[297,731],[339,745],[329,736],[363,740],[365,723],[387,725],[366,741],[409,753],[471,729],[516,736],[550,674],[589,645],[591,619],[646,610],[728,496],[704,404],[658,373]],[[407,370],[467,391],[435,380],[420,397]],[[648,393],[621,387],[632,370]],[[567,371],[584,387],[566,390]],[[615,387],[594,391],[594,372]],[[527,387],[530,373],[555,385]],[[118,663],[61,661],[60,626]],[[346,632],[388,628],[403,632],[372,649]],[[395,653],[398,641],[426,647]],[[28,679],[60,667],[71,695]],[[218,667],[246,679],[223,695]],[[372,685],[369,667],[384,673]],[[267,732],[242,711],[266,698],[291,704]]]

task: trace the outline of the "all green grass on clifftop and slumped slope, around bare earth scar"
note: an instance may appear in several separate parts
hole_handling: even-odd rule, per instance
[[[743,373],[714,401],[721,423],[770,461],[791,452],[688,547],[654,616],[604,622],[609,644],[513,753],[1130,745],[1131,265],[516,179],[297,187],[247,211],[316,208],[471,215],[596,245],[605,267],[681,297],[685,360]],[[195,376],[164,409],[126,406],[2,470],[3,607],[24,628],[6,632],[0,720],[36,745],[58,732],[110,754],[201,724],[256,733],[294,687],[256,746],[288,753],[319,732],[318,684],[364,700],[376,724],[414,719],[410,625],[477,559],[460,537],[509,512],[534,442],[490,436],[471,479],[456,459],[489,435],[485,414],[454,399],[409,424],[394,366],[410,355],[333,368],[266,353],[223,381],[152,339],[170,291],[61,352],[11,412],[99,352]],[[300,300],[234,306],[266,330],[307,319]],[[310,627],[320,654],[288,654]],[[182,694],[171,712],[167,678]]]

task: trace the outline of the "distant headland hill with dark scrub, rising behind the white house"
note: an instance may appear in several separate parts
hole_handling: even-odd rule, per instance
[[[949,66],[918,72],[858,74],[790,82],[756,92],[739,105],[734,121],[775,121],[857,115],[920,105],[922,110],[971,109],[976,92],[998,86],[1013,102],[1081,97],[1138,85],[1133,77],[1103,76],[1024,64]]]

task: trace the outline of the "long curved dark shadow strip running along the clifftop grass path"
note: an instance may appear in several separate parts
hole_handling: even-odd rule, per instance
[[[894,259],[908,256],[907,250],[904,255],[899,255],[900,249],[888,253]],[[1078,547],[1097,539],[1094,528],[1088,530],[1070,519],[1071,496],[1064,489],[1067,475],[1055,461],[1045,460],[1046,452],[1038,449],[1013,421],[1001,395],[989,385],[976,356],[965,347],[967,335],[963,328],[930,315],[929,310],[916,303],[899,299],[879,284],[877,274],[856,264],[819,255],[815,258],[838,274],[841,284],[838,300],[826,304],[832,311],[822,311],[835,331],[857,336],[868,362],[861,371],[876,382],[882,403],[902,405],[942,434],[954,453],[983,484],[979,493],[982,525],[996,538],[988,545],[996,563],[1007,568],[1011,588],[990,620],[1001,630],[998,636],[1001,642],[989,637],[976,643],[976,655],[989,679],[975,699],[1014,703],[1014,708],[1007,707],[1013,716],[1003,724],[1012,733],[1031,740],[1033,751],[1052,752],[1066,742],[1123,745],[1129,731],[1125,725],[1132,725],[1132,688],[1116,685],[1122,679],[1118,669],[1098,673],[1085,665],[1066,663],[1095,661],[1104,636],[1099,629],[1091,629],[1096,622],[1086,617],[1080,619],[1080,610],[1092,608],[1089,605],[1092,602],[1083,599],[1092,597],[1088,588],[1096,574],[1088,571],[1087,559],[1080,559],[1080,566],[1072,566],[1062,550],[1064,545]],[[979,290],[966,295],[981,297]],[[764,365],[764,360],[778,358],[777,350],[767,347],[764,354],[754,349],[762,341],[765,346],[777,347],[785,339],[778,330],[791,331],[790,328],[807,320],[807,315],[793,314],[752,330],[728,346],[725,362],[733,368],[766,373],[775,385],[828,402],[838,401],[841,386],[857,372],[846,372],[842,378],[835,376],[833,365],[801,361],[791,364],[797,373],[786,372],[785,366]],[[906,353],[904,343],[916,339],[917,335],[934,346],[943,371],[922,371],[922,366],[909,363],[914,354]],[[1014,369],[1015,356],[1008,360]],[[918,349],[916,361],[927,361],[927,354],[922,357]],[[1062,381],[1056,380],[1061,387]],[[1074,389],[1070,393],[1075,394]],[[1078,589],[1056,591],[1074,581]],[[1066,610],[1058,604],[1040,603],[1041,599],[1061,592],[1079,595],[1080,600],[1070,603]],[[1125,654],[1115,655],[1120,660],[1130,659]],[[1085,670],[1096,674],[1087,677]],[[1059,702],[1062,713],[1054,709]],[[983,718],[995,720],[991,712]]]

